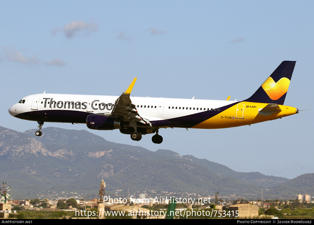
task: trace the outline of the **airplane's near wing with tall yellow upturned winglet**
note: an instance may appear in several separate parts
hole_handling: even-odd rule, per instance
[[[148,120],[143,119],[136,110],[136,107],[134,104],[132,104],[130,99],[130,93],[133,89],[133,86],[135,84],[137,77],[134,78],[132,83],[125,89],[125,91],[122,93],[120,97],[115,102],[115,105],[113,107],[113,110],[110,114],[113,118],[120,118],[123,120],[135,120],[143,124],[147,124],[149,126],[152,126],[151,123],[149,123]]]

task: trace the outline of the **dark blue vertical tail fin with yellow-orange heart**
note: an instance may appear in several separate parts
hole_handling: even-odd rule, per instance
[[[283,61],[246,102],[284,104],[296,61]]]

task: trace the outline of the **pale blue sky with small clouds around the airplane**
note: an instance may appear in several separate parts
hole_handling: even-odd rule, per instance
[[[162,129],[139,142],[113,142],[221,163],[241,172],[294,178],[312,173],[312,1],[0,1],[0,126],[36,122],[8,108],[42,93],[243,100],[284,60],[295,60],[285,105],[299,114],[228,129]],[[66,129],[85,124],[45,123]],[[34,135],[35,138],[35,135]]]

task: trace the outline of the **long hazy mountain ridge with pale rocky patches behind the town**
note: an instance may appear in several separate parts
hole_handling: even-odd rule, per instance
[[[86,196],[97,195],[101,179],[106,179],[108,191],[128,188],[172,192],[220,190],[226,196],[246,197],[258,196],[262,187],[271,188],[290,181],[259,172],[236,172],[227,166],[192,155],[180,156],[167,149],[153,152],[112,143],[86,130],[48,127],[42,132],[41,137],[34,138],[34,130],[20,133],[0,127],[0,160],[3,162],[0,181],[12,181],[19,190],[18,196],[35,194],[18,185],[23,176],[37,185],[28,190],[39,190],[40,186],[41,192],[86,192]],[[31,185],[24,182],[24,186]],[[68,190],[70,187],[73,190]]]

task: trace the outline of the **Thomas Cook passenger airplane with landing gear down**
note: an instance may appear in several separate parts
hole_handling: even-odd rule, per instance
[[[135,81],[119,96],[42,94],[29,95],[9,108],[20,119],[44,122],[86,123],[94,130],[119,129],[139,141],[160,128],[231,128],[290,116],[297,108],[284,106],[296,61],[283,61],[257,91],[243,101],[131,97]]]

